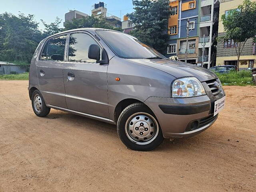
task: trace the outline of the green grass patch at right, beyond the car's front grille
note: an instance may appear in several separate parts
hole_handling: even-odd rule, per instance
[[[254,85],[252,82],[252,72],[249,70],[234,71],[226,74],[216,73],[216,75],[220,79],[222,85]]]

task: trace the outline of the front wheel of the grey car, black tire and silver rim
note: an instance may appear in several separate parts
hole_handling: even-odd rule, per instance
[[[121,112],[117,132],[128,148],[137,151],[153,150],[164,140],[154,113],[140,102],[127,106]]]

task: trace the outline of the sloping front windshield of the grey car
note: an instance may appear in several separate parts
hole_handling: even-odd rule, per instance
[[[120,58],[126,59],[158,59],[166,58],[157,50],[144,44],[137,38],[125,33],[97,30],[99,36],[108,44],[108,46]]]

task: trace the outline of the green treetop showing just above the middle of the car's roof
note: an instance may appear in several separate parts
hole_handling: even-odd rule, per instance
[[[108,24],[105,18],[96,18],[94,16],[87,16],[83,18],[74,18],[72,22],[65,22],[65,30],[77,29],[77,28],[104,28],[121,31],[121,28],[117,28]]]

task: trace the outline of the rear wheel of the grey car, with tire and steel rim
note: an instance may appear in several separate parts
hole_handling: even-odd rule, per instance
[[[37,116],[45,117],[50,113],[51,108],[46,106],[44,98],[38,90],[32,93],[31,103],[33,111]]]

